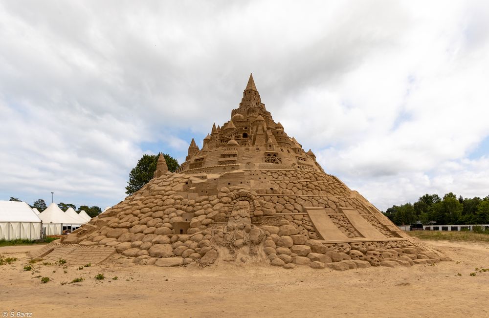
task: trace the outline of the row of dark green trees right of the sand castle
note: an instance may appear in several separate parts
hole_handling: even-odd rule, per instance
[[[489,224],[489,195],[464,198],[452,192],[443,198],[425,194],[415,203],[392,206],[383,212],[396,225]]]

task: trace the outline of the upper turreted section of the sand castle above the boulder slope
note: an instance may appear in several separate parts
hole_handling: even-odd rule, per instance
[[[239,169],[324,172],[312,151],[304,151],[295,138],[287,135],[282,124],[273,121],[252,75],[240,106],[231,111],[231,119],[222,127],[212,126],[202,149],[192,139],[188,156],[177,172],[222,173]]]

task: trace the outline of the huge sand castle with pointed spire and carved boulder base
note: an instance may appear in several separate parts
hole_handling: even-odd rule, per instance
[[[238,108],[194,139],[176,173],[160,156],[142,189],[32,257],[157,266],[257,262],[346,270],[449,260],[324,172],[275,122],[250,76]]]

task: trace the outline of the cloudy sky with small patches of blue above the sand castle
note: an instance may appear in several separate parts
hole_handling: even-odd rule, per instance
[[[262,102],[378,209],[489,195],[488,1],[0,1],[0,200],[102,209]]]

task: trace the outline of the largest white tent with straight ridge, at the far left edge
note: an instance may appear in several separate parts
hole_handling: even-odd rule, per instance
[[[27,203],[0,201],[0,239],[40,239],[41,226],[41,220]]]

